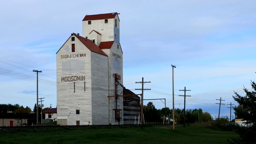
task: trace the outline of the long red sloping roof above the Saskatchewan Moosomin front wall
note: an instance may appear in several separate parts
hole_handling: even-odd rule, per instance
[[[96,52],[98,54],[102,54],[104,56],[108,56],[105,52],[103,52],[96,44],[94,44],[91,40],[84,38],[82,36],[78,36],[77,34],[73,33],[74,36],[78,38],[90,51]]]

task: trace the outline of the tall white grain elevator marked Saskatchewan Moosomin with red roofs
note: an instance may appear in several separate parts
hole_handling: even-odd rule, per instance
[[[57,124],[124,124],[123,53],[117,13],[86,15],[56,53]]]

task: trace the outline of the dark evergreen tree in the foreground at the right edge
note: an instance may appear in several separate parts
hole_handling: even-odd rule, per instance
[[[234,131],[239,134],[240,139],[229,140],[230,144],[255,144],[256,143],[256,84],[251,81],[252,91],[244,87],[245,96],[240,96],[235,92],[234,100],[239,106],[234,108],[236,115],[243,120],[245,124],[253,123],[251,127],[236,125]]]

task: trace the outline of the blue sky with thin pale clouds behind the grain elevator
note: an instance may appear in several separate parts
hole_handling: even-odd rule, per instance
[[[256,77],[256,2],[253,0],[12,0],[1,2],[0,100],[33,108],[39,98],[56,107],[56,52],[71,33],[82,34],[86,14],[120,13],[123,81],[136,94],[144,77],[145,99],[166,98],[175,108],[186,86],[186,109],[214,118],[230,116],[234,91],[244,95]],[[160,100],[152,101],[157,109]],[[144,104],[148,102],[145,101]],[[233,111],[232,111],[233,113]],[[234,115],[234,114],[232,114]]]

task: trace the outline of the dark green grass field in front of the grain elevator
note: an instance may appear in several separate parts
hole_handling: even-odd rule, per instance
[[[232,131],[204,126],[111,126],[0,132],[0,144],[228,144]]]

